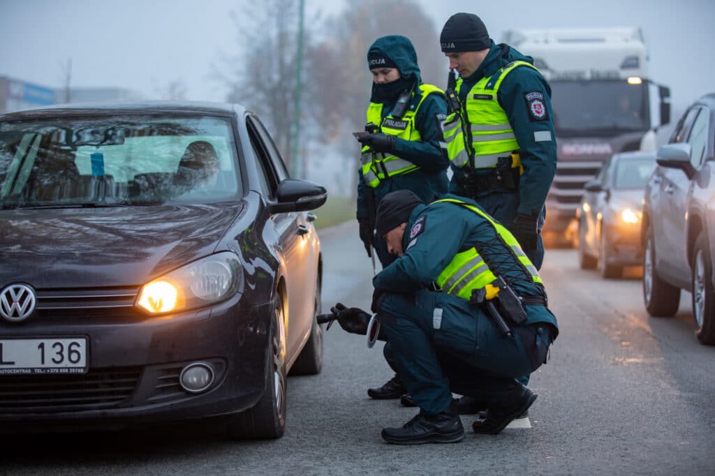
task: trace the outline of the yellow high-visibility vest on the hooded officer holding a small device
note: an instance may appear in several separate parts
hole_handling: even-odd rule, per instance
[[[415,127],[415,116],[420,109],[423,101],[430,94],[444,94],[444,91],[432,84],[420,84],[419,89],[422,93],[420,102],[414,110],[408,109],[402,119],[395,119],[390,113],[383,119],[383,104],[371,102],[368,107],[368,124],[372,123],[378,126],[378,129],[383,134],[400,137],[408,141],[418,141],[422,139],[420,132]],[[374,152],[370,147],[363,147],[363,155],[360,158],[363,179],[369,187],[378,187],[380,182],[388,177],[397,175],[409,174],[419,169],[418,166],[409,160],[400,159],[394,154],[384,154]]]

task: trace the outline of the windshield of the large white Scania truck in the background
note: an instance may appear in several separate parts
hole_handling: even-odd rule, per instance
[[[645,132],[648,87],[626,80],[551,81],[554,127],[561,137]]]

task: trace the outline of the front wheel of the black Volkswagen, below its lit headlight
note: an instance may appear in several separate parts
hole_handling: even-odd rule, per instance
[[[285,373],[285,324],[283,300],[278,294],[270,326],[266,387],[252,408],[231,415],[227,433],[232,440],[267,440],[285,432],[287,380]]]

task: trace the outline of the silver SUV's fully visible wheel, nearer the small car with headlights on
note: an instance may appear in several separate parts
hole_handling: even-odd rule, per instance
[[[673,317],[680,304],[680,288],[658,276],[653,229],[646,235],[646,249],[643,254],[643,300],[646,311],[653,317]]]

